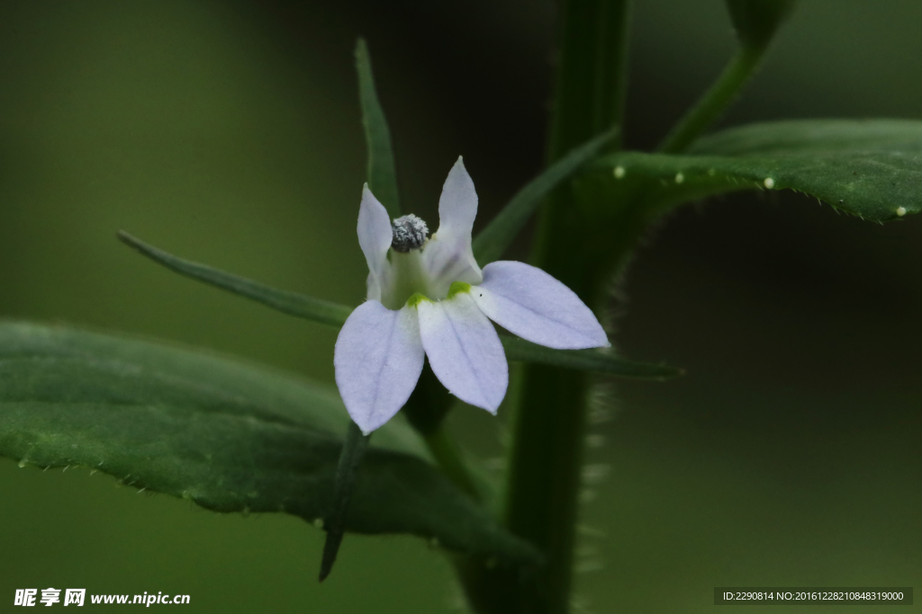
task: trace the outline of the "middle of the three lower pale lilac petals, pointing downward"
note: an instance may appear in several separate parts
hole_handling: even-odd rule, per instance
[[[490,320],[467,292],[420,301],[420,335],[429,365],[460,400],[496,413],[509,386],[509,366]]]

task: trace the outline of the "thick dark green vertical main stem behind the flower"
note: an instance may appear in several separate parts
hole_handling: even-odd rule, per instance
[[[549,163],[621,124],[627,57],[627,0],[564,0],[560,64],[551,117]],[[542,211],[533,262],[591,307],[599,307],[609,267],[608,241],[590,244],[598,220],[562,186]],[[526,365],[514,415],[505,522],[542,550],[538,570],[459,565],[470,603],[481,614],[565,614],[570,609],[573,544],[585,439],[589,377]]]

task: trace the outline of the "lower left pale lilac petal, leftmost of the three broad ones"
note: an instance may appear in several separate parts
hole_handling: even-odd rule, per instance
[[[339,395],[364,434],[390,420],[409,399],[424,353],[416,309],[392,311],[366,301],[339,330],[333,365]]]

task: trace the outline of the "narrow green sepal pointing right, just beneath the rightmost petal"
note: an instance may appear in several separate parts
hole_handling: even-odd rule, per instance
[[[580,371],[595,371],[611,376],[667,379],[682,375],[682,370],[673,366],[633,363],[599,350],[552,350],[543,345],[526,342],[524,339],[501,335],[502,348],[511,361],[561,366]]]

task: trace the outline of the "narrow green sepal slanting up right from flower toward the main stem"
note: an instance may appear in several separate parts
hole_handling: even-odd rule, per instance
[[[474,239],[474,257],[479,265],[486,266],[502,256],[544,197],[609,145],[618,133],[617,129],[612,129],[576,147],[519,190]]]

